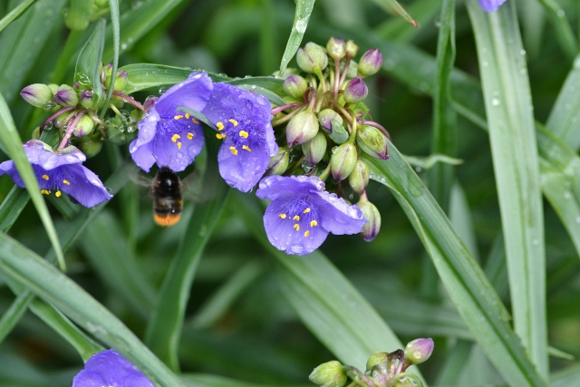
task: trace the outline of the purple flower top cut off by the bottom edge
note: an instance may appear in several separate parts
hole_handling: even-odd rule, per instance
[[[137,367],[113,350],[92,355],[73,379],[73,387],[155,387]]]

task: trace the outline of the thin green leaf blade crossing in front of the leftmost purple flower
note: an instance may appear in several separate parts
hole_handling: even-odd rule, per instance
[[[61,269],[65,270],[66,265],[64,264],[63,249],[61,248],[58,236],[56,235],[56,230],[54,229],[53,219],[51,218],[48,208],[46,208],[46,203],[43,200],[43,196],[40,193],[40,187],[38,186],[38,181],[34,175],[33,168],[30,166],[28,159],[26,159],[26,154],[22,147],[22,140],[18,135],[18,131],[14,125],[12,115],[6,106],[4,97],[0,93],[0,141],[2,141],[6,148],[8,149],[8,154],[12,160],[14,160],[14,165],[18,169],[18,173],[22,177],[26,189],[30,198],[32,198],[34,203],[34,208],[38,212],[38,216],[43,222],[44,229],[48,238],[53,244],[54,251],[56,251],[56,256],[58,258],[59,265]]]

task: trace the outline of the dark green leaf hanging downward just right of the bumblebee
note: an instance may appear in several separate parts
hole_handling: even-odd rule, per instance
[[[207,136],[207,139],[210,139]],[[206,141],[208,160],[217,160],[218,144],[215,139]],[[214,157],[210,157],[213,155]],[[209,237],[218,223],[219,215],[227,199],[226,183],[217,179],[218,164],[208,163],[204,174],[204,189],[212,193],[211,199],[196,206],[188,228],[182,236],[178,251],[171,261],[169,271],[161,285],[158,304],[147,326],[145,343],[151,351],[169,365],[179,370],[179,335],[183,326],[185,310],[196,274],[199,259],[208,244]]]

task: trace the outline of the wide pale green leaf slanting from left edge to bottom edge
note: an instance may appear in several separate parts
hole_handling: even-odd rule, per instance
[[[183,383],[111,312],[72,279],[11,237],[0,234],[0,272],[54,305],[90,334],[123,354],[159,386]]]

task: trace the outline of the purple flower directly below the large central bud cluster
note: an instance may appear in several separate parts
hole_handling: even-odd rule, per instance
[[[325,191],[315,176],[268,176],[256,196],[272,200],[264,227],[270,243],[286,254],[312,253],[329,232],[356,234],[367,222],[360,208]]]

